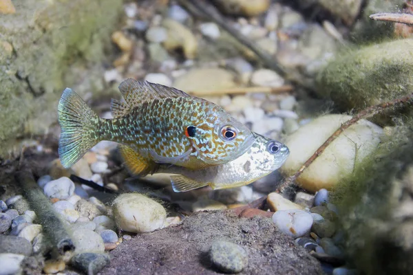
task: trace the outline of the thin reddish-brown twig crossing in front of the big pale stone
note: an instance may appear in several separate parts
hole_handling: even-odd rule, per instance
[[[364,109],[363,111],[357,113],[357,115],[354,115],[350,120],[341,124],[340,128],[337,129],[337,131],[335,131],[334,133],[332,133],[332,135],[328,137],[326,142],[319,146],[317,151],[315,151],[315,153],[309,159],[307,159],[307,161],[301,166],[301,168],[299,168],[299,170],[297,170],[297,172],[294,175],[284,179],[284,181],[282,181],[282,183],[277,188],[276,192],[282,193],[288,186],[290,186],[290,184],[293,184],[293,182],[301,175],[301,173],[303,173],[304,170],[306,170],[306,168],[308,168],[308,166],[310,166],[315,161],[315,159],[317,159],[317,157],[321,155],[324,152],[324,150],[326,150],[327,146],[330,145],[330,143],[333,142],[337,137],[339,137],[339,135],[343,133],[344,130],[352,126],[352,124],[355,124],[363,118],[368,118],[372,115],[376,115],[377,113],[381,113],[381,111],[384,111],[385,109],[388,109],[390,107],[399,107],[402,104],[411,103],[412,101],[413,94],[410,94],[409,96],[404,96],[403,98],[396,98],[395,100],[392,100],[390,102],[385,102],[368,107],[367,109]]]

